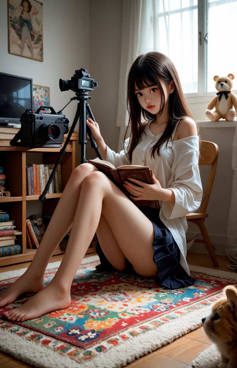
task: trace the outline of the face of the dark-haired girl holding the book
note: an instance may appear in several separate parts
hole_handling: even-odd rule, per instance
[[[161,86],[164,90],[166,104],[170,93],[169,88],[162,81]],[[158,86],[150,86],[141,90],[135,88],[135,94],[144,110],[149,111],[154,115],[158,114],[161,107],[161,96]]]

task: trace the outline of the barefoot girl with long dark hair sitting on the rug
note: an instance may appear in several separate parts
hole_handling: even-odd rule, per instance
[[[131,179],[124,186],[134,201],[158,199],[161,209],[138,208],[92,164],[76,167],[32,263],[0,297],[2,307],[22,293],[36,293],[21,307],[5,312],[8,319],[25,321],[69,307],[74,275],[95,232],[100,270],[156,276],[159,284],[170,289],[194,283],[185,259],[185,215],[199,207],[202,197],[198,127],[168,57],[150,52],[134,61],[128,75],[127,107],[131,137],[120,153],[106,146],[96,122],[89,119],[87,125],[103,158],[114,166],[143,164],[153,170],[154,184]],[[45,268],[70,227],[61,265],[44,288]]]

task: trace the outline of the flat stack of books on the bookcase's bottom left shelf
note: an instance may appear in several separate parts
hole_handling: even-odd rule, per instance
[[[0,210],[0,257],[22,252],[21,246],[15,244],[16,235],[21,235],[22,233],[14,230],[14,228],[14,221],[9,220],[8,213]]]

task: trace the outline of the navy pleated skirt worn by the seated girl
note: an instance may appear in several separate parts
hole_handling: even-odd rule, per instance
[[[139,209],[152,222],[154,227],[153,261],[157,266],[157,276],[150,278],[154,278],[157,284],[167,287],[168,289],[179,289],[193,285],[195,279],[192,276],[189,276],[181,266],[179,247],[169,229],[167,229],[160,220],[160,210],[144,206],[139,206]],[[101,262],[96,266],[97,270],[101,272],[106,270],[117,271],[103,254],[99,242],[96,244],[96,252]],[[125,261],[125,269],[121,272],[138,275],[127,258]]]

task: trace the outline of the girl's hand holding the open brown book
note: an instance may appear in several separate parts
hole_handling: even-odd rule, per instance
[[[161,187],[160,182],[155,178],[154,174],[152,174],[152,178],[154,184],[146,184],[140,180],[130,178],[128,181],[124,182],[124,188],[131,193],[130,198],[134,199],[134,201],[141,201],[142,199],[152,201],[158,199],[161,200],[164,188]],[[132,182],[141,185],[142,188],[137,187],[132,184]]]

